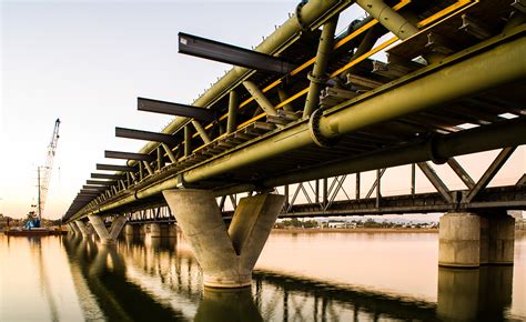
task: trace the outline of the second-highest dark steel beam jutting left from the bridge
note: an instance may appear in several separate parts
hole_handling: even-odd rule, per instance
[[[215,113],[212,110],[145,98],[136,98],[136,109],[145,112],[185,117],[204,122],[215,120]]]

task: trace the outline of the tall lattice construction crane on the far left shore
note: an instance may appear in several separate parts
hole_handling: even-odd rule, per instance
[[[42,213],[45,207],[45,199],[48,198],[49,182],[51,180],[51,172],[53,171],[53,160],[57,153],[57,143],[59,141],[59,127],[60,119],[54,121],[53,134],[51,135],[51,142],[48,145],[48,153],[45,158],[45,165],[39,167],[38,170],[38,203],[37,203],[37,218],[29,220],[26,223],[26,228],[39,228],[40,221],[42,220]]]

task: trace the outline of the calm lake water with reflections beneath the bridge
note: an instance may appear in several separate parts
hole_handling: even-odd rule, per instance
[[[176,239],[0,234],[0,321],[524,321],[514,266],[437,266],[437,233],[273,232],[251,289],[203,289]]]

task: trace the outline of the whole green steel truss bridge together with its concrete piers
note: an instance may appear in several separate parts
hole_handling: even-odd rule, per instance
[[[336,34],[346,10],[367,16]],[[174,212],[195,237],[205,285],[220,288],[251,284],[280,210],[446,212],[441,265],[513,263],[506,210],[526,209],[526,179],[488,184],[526,143],[525,17],[522,0],[310,0],[253,50],[180,32],[181,53],[234,67],[190,105],[138,98],[139,111],[175,118],[161,132],[115,128],[149,142],[105,151],[127,165],[97,164],[111,172],[91,174],[63,221],[85,234],[89,219],[114,243],[128,219],[173,221]],[[455,159],[489,150],[499,151],[477,181]],[[432,163],[447,163],[465,189],[449,189]],[[386,169],[408,164],[411,191],[383,197]],[[416,169],[436,193],[416,191]],[[367,171],[376,180],[364,193]],[[345,192],[348,178],[355,198]],[[113,218],[110,231],[104,218]],[[465,246],[473,252],[459,252]]]

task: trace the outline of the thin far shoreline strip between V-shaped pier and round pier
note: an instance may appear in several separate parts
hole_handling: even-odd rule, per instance
[[[427,228],[307,228],[307,229],[272,229],[271,233],[320,233],[320,232],[338,232],[338,233],[438,233],[438,229]]]

